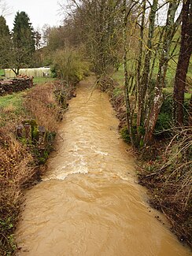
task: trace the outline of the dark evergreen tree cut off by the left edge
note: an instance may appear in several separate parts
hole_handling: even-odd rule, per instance
[[[0,67],[2,69],[7,68],[9,65],[10,39],[11,35],[6,19],[0,16]]]

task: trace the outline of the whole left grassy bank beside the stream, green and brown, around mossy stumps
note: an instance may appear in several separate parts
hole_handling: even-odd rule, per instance
[[[57,125],[65,112],[67,95],[60,83],[47,82],[0,97],[0,255],[11,255],[16,250],[13,232],[23,189],[39,178],[41,164],[52,149]],[[30,122],[34,125],[30,139],[26,134],[19,137],[18,125]],[[46,129],[43,149],[39,149],[36,139],[38,125]]]

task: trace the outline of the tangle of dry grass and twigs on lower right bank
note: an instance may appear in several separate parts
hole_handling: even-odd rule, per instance
[[[192,247],[192,128],[174,132],[161,159],[146,163],[139,178],[153,194],[152,205],[168,217],[179,239]]]

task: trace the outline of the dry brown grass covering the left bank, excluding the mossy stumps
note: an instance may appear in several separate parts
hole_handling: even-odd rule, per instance
[[[41,84],[18,95],[20,104],[5,105],[0,115],[0,255],[13,254],[13,232],[17,222],[23,187],[35,177],[39,167],[30,146],[16,137],[16,127],[34,118],[47,131],[56,132],[62,106],[57,102],[54,83]],[[14,99],[13,99],[14,101]]]

